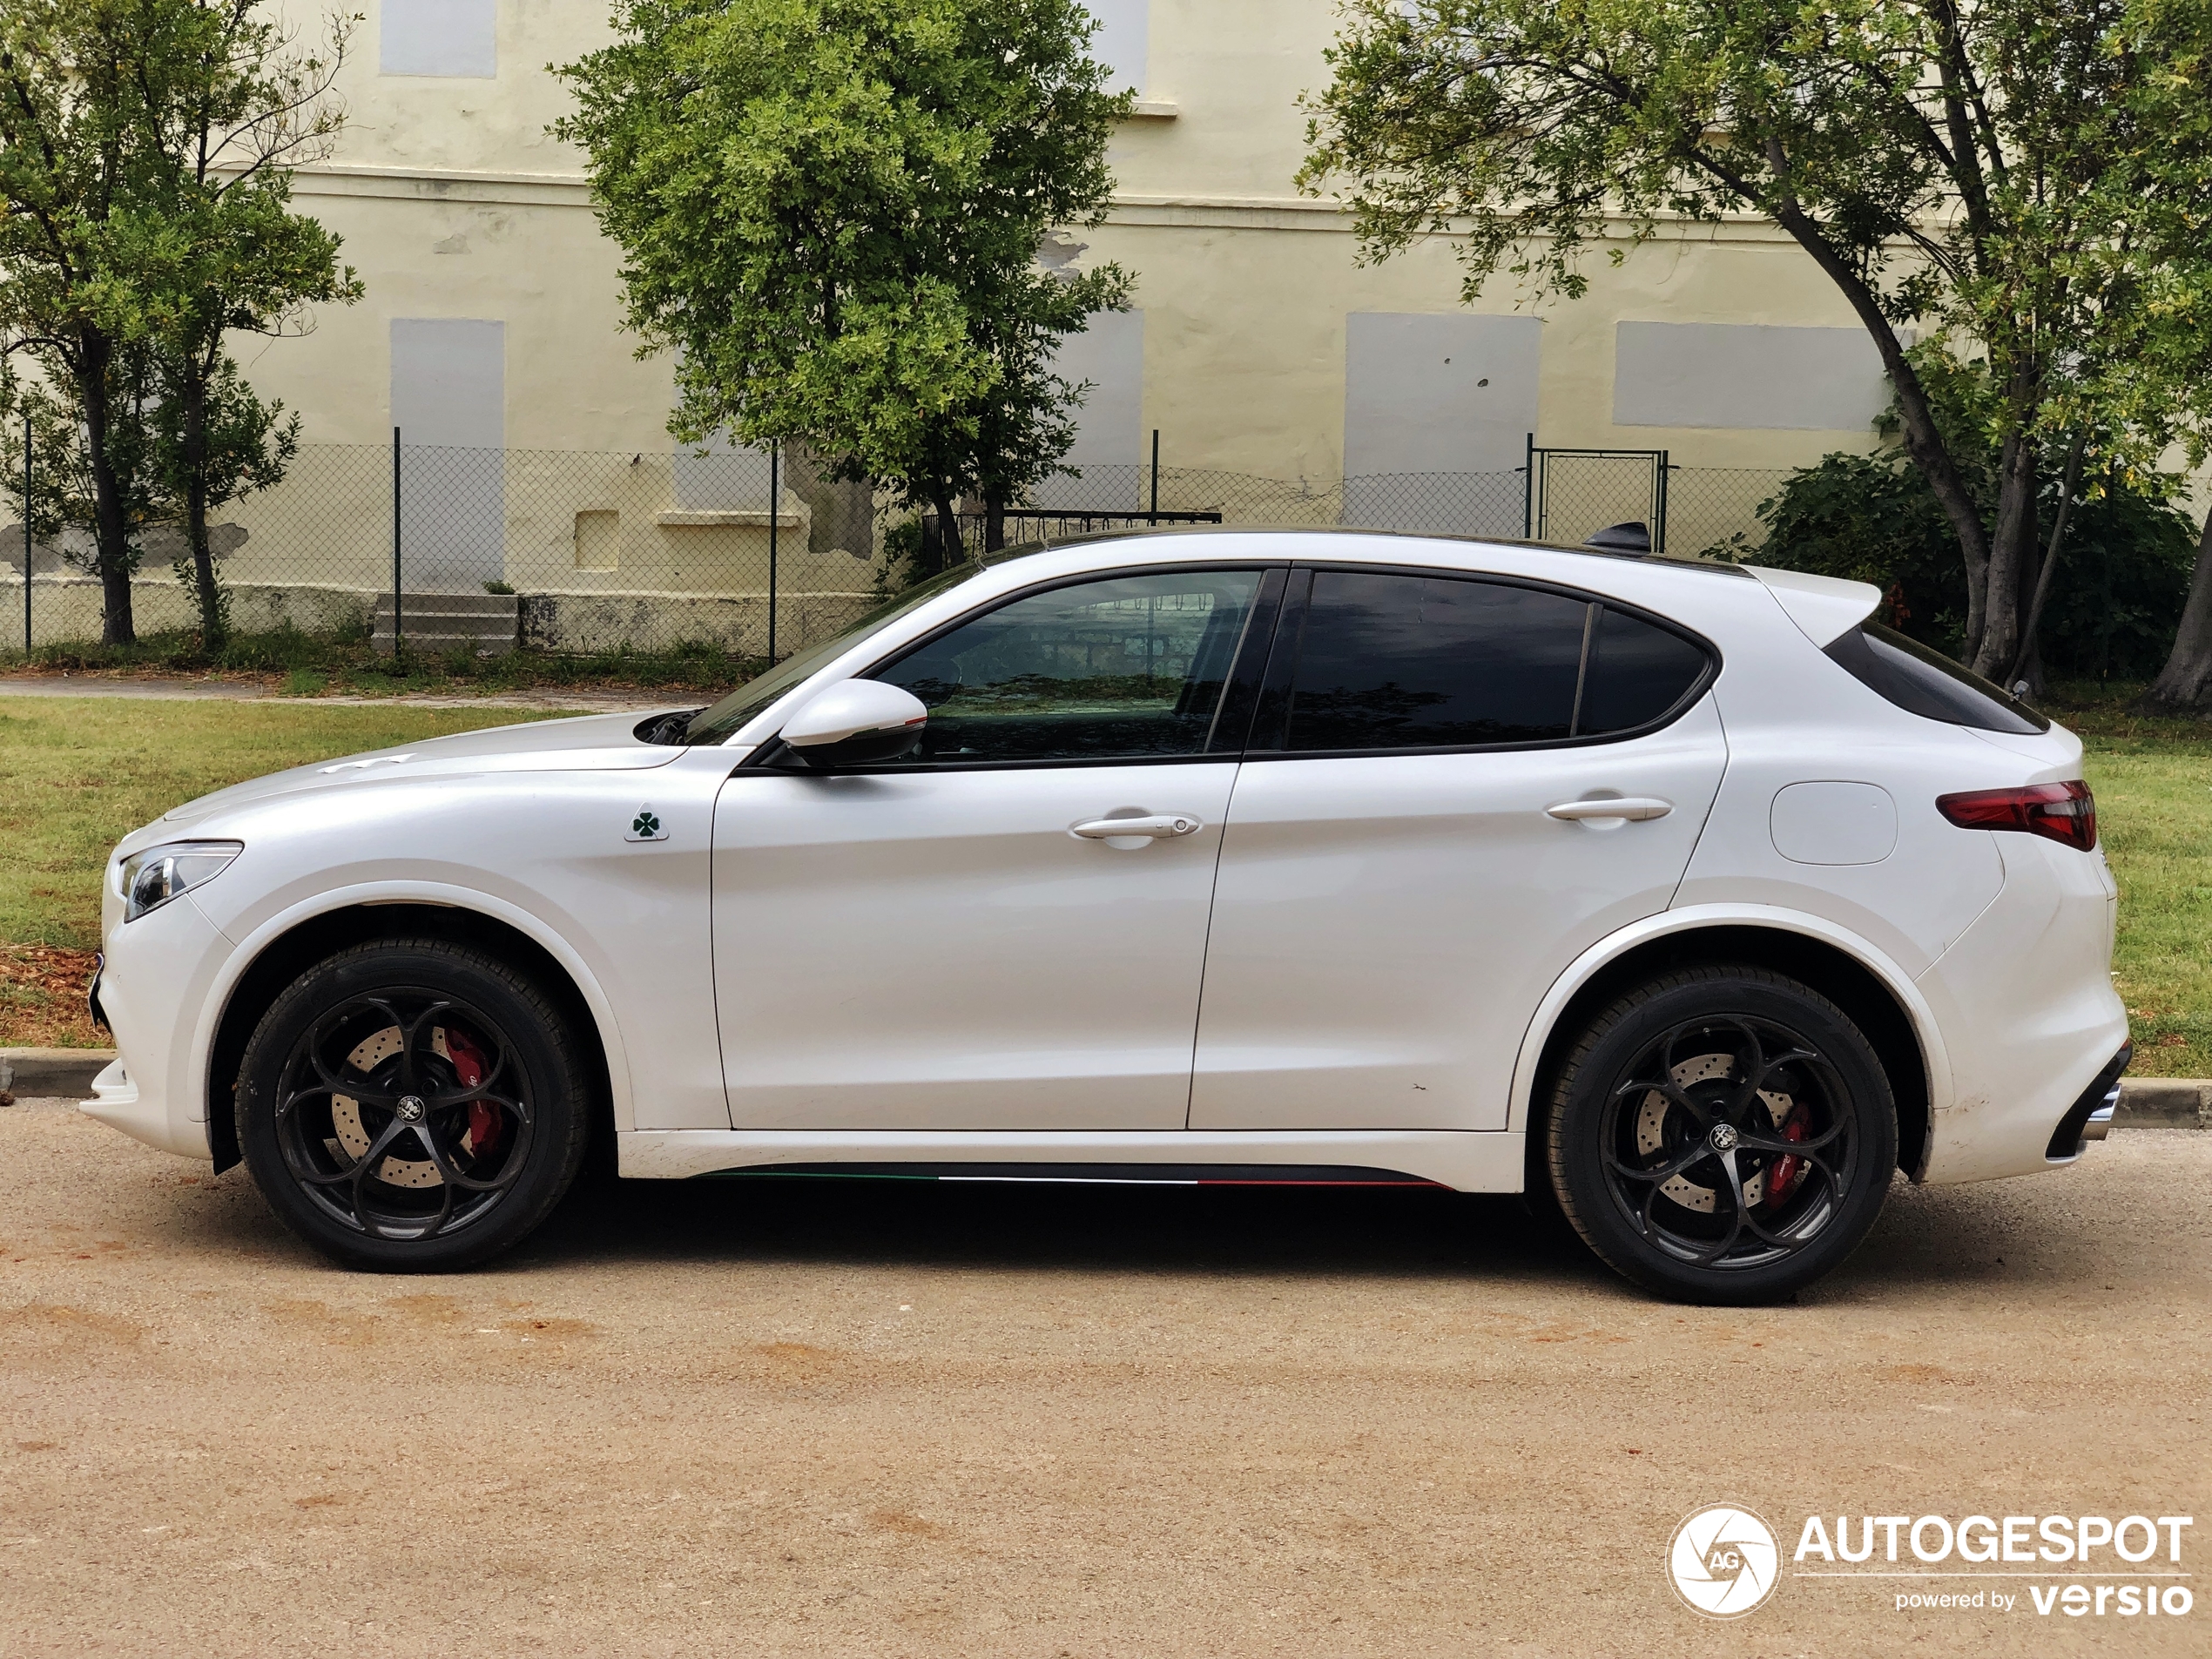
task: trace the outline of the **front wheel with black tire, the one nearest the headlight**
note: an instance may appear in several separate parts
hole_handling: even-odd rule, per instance
[[[376,940],[261,1018],[239,1150],[270,1206],[347,1267],[449,1272],[526,1237],[584,1161],[584,1066],[553,998],[484,951]]]

